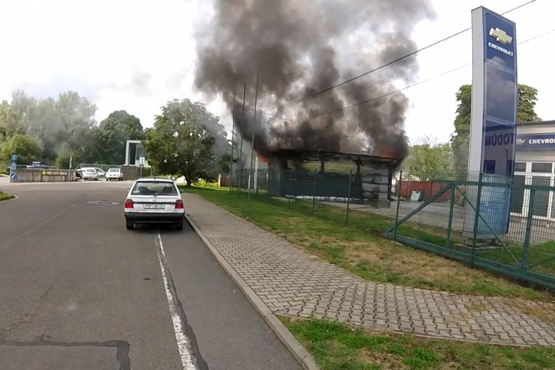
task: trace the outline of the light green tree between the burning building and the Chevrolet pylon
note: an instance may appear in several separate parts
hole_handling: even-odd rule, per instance
[[[429,136],[420,139],[420,143],[411,146],[404,168],[423,181],[452,170],[450,143],[435,143]]]

